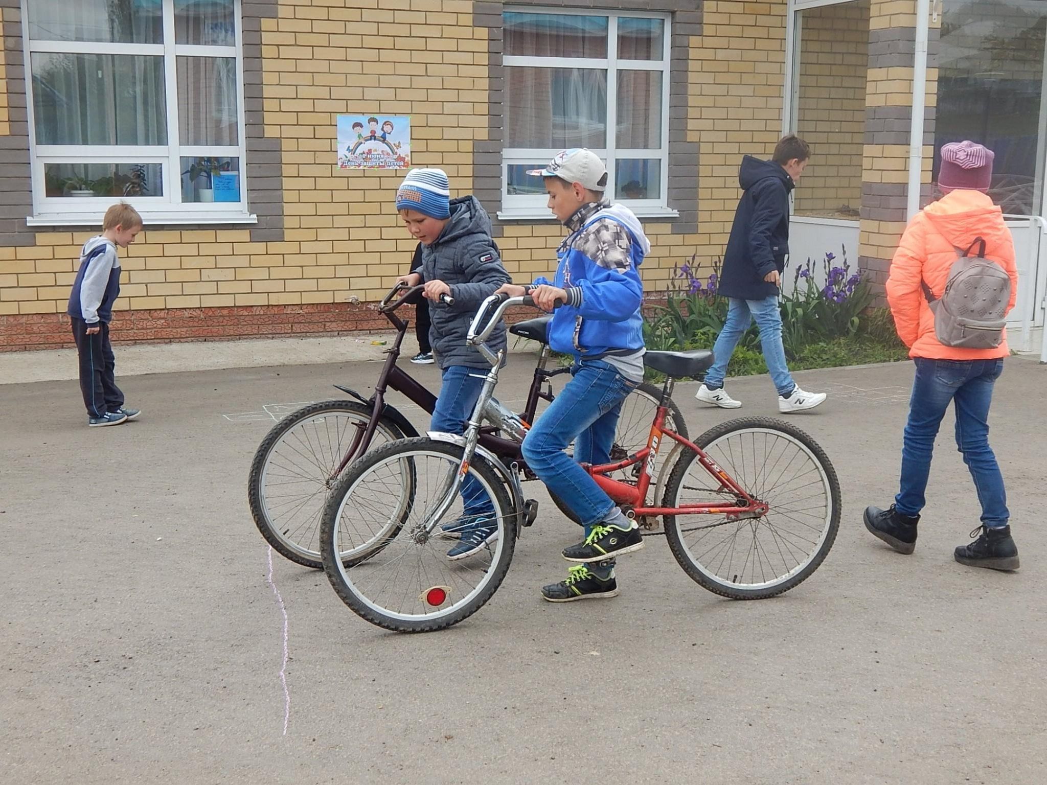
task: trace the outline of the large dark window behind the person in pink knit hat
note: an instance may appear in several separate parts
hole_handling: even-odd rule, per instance
[[[934,181],[942,147],[984,144],[996,153],[989,196],[1010,215],[1043,209],[1045,29],[1043,0],[945,3],[941,18]]]

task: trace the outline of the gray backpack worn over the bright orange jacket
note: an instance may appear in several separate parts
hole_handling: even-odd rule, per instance
[[[978,246],[978,255],[971,249]],[[946,346],[996,349],[1003,341],[1010,276],[996,262],[985,259],[985,241],[976,238],[949,271],[945,291],[935,297],[927,282],[923,295],[934,314],[934,333]]]

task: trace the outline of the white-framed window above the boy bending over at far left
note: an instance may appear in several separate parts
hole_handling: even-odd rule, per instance
[[[240,0],[23,0],[32,223],[244,220]],[[219,203],[217,206],[214,203]]]

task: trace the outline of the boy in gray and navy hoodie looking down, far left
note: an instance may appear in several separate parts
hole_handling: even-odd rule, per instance
[[[134,420],[137,409],[124,406],[116,386],[116,358],[109,342],[113,302],[120,293],[120,260],[116,249],[127,248],[141,231],[141,216],[120,202],[106,210],[102,233],[84,243],[80,269],[69,294],[69,320],[80,355],[80,389],[91,428]]]

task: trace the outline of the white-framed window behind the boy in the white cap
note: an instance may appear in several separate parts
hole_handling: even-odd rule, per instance
[[[561,150],[588,148],[607,165],[607,195],[666,211],[669,19],[627,13],[503,17],[503,217],[545,217],[545,188],[527,174]]]

